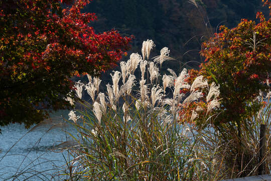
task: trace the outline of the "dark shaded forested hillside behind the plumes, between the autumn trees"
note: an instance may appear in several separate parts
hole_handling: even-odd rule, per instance
[[[197,7],[188,0],[93,0],[85,11],[97,14],[98,20],[93,24],[97,31],[116,29],[122,35],[134,35],[133,52],[141,51],[144,40],[153,39],[156,51],[169,47],[179,65],[200,61],[200,42],[212,36],[219,25],[232,28],[242,18],[254,20],[257,11],[265,11],[261,0],[196,0],[196,3]],[[171,63],[169,66],[175,65]]]

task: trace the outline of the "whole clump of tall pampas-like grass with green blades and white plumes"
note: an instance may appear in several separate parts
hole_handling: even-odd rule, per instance
[[[186,69],[179,75],[171,69],[169,75],[160,75],[157,64],[171,58],[168,48],[163,48],[162,55],[151,61],[154,46],[152,40],[145,41],[143,56],[133,53],[127,62],[120,62],[121,72],[111,74],[112,84],[106,85],[106,93],[100,93],[99,83],[88,75],[89,82],[83,86],[93,103],[82,101],[84,110],[69,114],[78,130],[77,136],[71,135],[78,145],[67,149],[72,156],[66,169],[69,179],[212,179],[206,166],[212,163],[200,148],[204,137],[192,124],[179,122],[184,117],[180,110],[206,99],[203,90],[212,91],[209,99],[218,103],[218,86],[209,85],[202,77],[188,84]],[[135,77],[139,65],[141,77]],[[96,82],[100,80],[96,78]],[[81,89],[80,85],[76,84]],[[79,88],[76,93],[80,98]],[[183,93],[183,89],[189,91]],[[211,110],[218,107],[208,106],[205,116],[213,116]],[[199,110],[190,115],[191,122]]]

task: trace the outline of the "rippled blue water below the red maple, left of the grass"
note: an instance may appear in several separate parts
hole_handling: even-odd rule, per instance
[[[0,134],[0,180],[59,180],[67,152],[52,151],[61,141],[71,140],[65,131],[75,132],[64,121],[68,111],[51,115],[43,125],[27,130],[24,125],[2,127]],[[15,176],[17,175],[17,176]],[[12,177],[14,176],[14,177]]]

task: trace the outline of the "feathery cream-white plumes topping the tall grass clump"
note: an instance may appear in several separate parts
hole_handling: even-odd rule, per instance
[[[163,61],[170,59],[169,50],[166,47],[163,48],[161,54],[154,58],[155,62],[148,62],[145,59],[146,57],[149,59],[150,51],[154,46],[152,40],[147,40],[143,43],[142,47],[143,57],[137,53],[133,53],[130,55],[127,62],[120,62],[121,72],[113,71],[113,73],[110,74],[112,77],[112,85],[106,85],[106,93],[98,92],[101,80],[97,77],[92,78],[88,75],[89,83],[86,84],[85,87],[94,103],[92,111],[99,123],[101,122],[103,114],[106,116],[106,114],[110,113],[110,111],[106,111],[108,108],[113,109],[115,114],[117,114],[117,111],[121,110],[121,108],[123,109],[123,113],[132,114],[133,111],[126,111],[127,105],[130,107],[129,109],[132,109],[135,106],[135,108],[139,110],[139,113],[147,111],[144,113],[145,116],[159,110],[160,113],[157,113],[161,119],[182,119],[182,117],[184,118],[185,116],[185,120],[190,122],[199,119],[199,115],[209,115],[211,110],[217,109],[220,106],[219,100],[217,100],[220,93],[219,85],[212,83],[209,86],[207,80],[204,79],[203,76],[198,76],[192,85],[190,85],[187,82],[189,74],[185,68],[179,75],[172,69],[168,69],[169,74],[164,74],[162,77],[163,81],[160,82],[160,70],[155,65],[155,62],[162,64]],[[138,68],[139,63],[141,77],[137,78],[133,73]],[[146,78],[145,72],[147,66],[147,71],[149,71],[150,76]],[[121,77],[122,82],[119,83]],[[137,81],[139,82],[137,83]],[[147,84],[146,82],[150,83]],[[78,91],[80,92],[82,85],[81,82],[76,83],[76,86],[78,86],[78,88],[75,89],[76,93]],[[167,93],[166,96],[167,87],[170,87],[168,91],[172,91],[172,93]],[[187,92],[180,93],[181,89],[184,88],[187,89]],[[202,94],[202,91],[206,90],[209,90],[209,93]],[[79,93],[77,95],[80,96]],[[97,98],[95,98],[96,95]],[[199,106],[197,108],[192,108],[194,110],[189,110],[189,106],[192,105],[191,103],[202,101],[202,99],[205,98],[206,100],[203,101],[208,103],[206,114],[199,114],[199,112],[206,111],[206,109],[202,109]],[[108,103],[106,101],[108,101]],[[184,113],[188,114],[182,113],[185,109],[187,109],[187,112]],[[133,115],[130,117],[134,118]],[[74,117],[71,118],[74,119]],[[127,121],[129,115],[126,115],[124,118]]]

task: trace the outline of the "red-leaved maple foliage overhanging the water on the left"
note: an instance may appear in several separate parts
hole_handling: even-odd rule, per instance
[[[115,30],[96,34],[89,26],[96,20],[95,14],[81,13],[89,2],[0,2],[0,110],[12,113],[13,104],[21,104],[35,112],[33,105],[44,100],[59,108],[60,95],[69,92],[70,76],[84,72],[98,75],[116,65],[131,38],[121,37]],[[10,104],[4,101],[7,97]],[[18,118],[27,117],[23,114]]]

